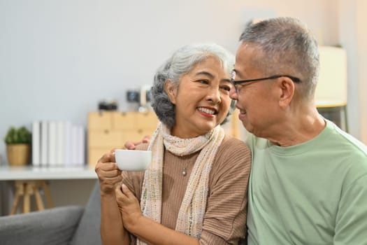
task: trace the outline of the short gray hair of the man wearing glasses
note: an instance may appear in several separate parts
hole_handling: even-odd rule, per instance
[[[301,21],[295,18],[261,20],[247,25],[240,41],[260,49],[253,65],[264,71],[264,76],[298,77],[301,96],[313,98],[319,76],[319,50],[315,37]]]

